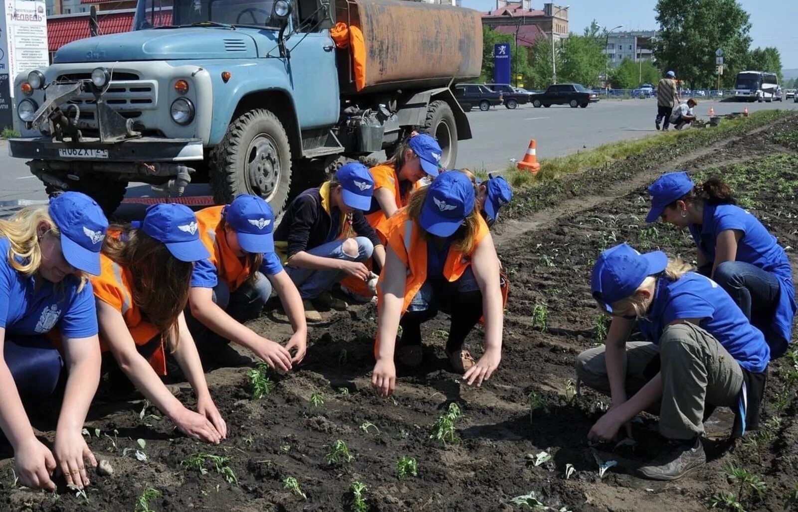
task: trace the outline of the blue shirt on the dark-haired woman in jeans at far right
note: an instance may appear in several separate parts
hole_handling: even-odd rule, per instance
[[[779,305],[770,327],[789,342],[792,338],[792,320],[798,306],[795,286],[792,284],[792,268],[776,237],[770,234],[759,219],[733,204],[706,205],[704,223],[701,226],[690,224],[689,230],[708,262],[715,261],[717,235],[721,231],[742,231],[743,235],[737,242],[736,261],[750,263],[778,278]]]

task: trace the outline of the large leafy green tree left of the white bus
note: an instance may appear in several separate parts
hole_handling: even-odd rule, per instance
[[[715,81],[715,50],[723,49],[725,68],[736,74],[751,45],[749,14],[736,0],[658,0],[660,35],[654,57],[674,69],[690,87]]]

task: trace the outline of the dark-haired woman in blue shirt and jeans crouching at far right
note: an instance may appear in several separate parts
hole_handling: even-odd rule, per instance
[[[792,339],[795,286],[787,253],[775,236],[748,211],[736,206],[729,185],[710,178],[696,185],[686,172],[669,172],[649,187],[657,219],[687,228],[698,248],[701,274],[713,278],[764,333],[772,359],[784,355]]]

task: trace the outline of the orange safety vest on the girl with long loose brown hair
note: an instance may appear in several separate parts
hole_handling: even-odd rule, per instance
[[[141,309],[136,305],[136,301],[133,301],[133,276],[130,270],[113,262],[105,254],[100,254],[100,266],[100,275],[92,278],[94,297],[122,313],[124,324],[128,326],[130,336],[136,345],[147,345],[160,332],[155,325],[144,320]],[[102,334],[100,336],[100,349],[102,352],[109,350],[108,342],[103,339]],[[166,375],[166,352],[164,350],[163,337],[160,341],[160,347],[155,352],[152,352],[149,364],[158,375]]]

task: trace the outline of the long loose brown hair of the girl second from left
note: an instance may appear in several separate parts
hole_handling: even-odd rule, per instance
[[[172,351],[180,340],[177,317],[188,303],[192,262],[181,262],[167,247],[142,230],[113,225],[105,237],[102,252],[133,276],[131,295],[148,321],[166,335]],[[169,336],[171,335],[171,336]]]

